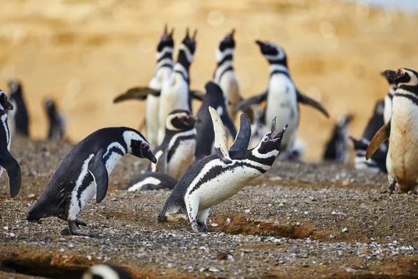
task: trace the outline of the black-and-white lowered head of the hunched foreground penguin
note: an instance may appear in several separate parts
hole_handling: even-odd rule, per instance
[[[152,163],[157,163],[152,151],[150,151],[150,144],[145,140],[145,137],[137,130],[129,129],[123,132],[123,140],[127,146],[127,153],[131,153],[138,158],[147,158]]]

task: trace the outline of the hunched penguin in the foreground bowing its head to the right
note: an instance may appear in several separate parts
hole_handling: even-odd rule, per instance
[[[56,216],[68,221],[68,229],[63,229],[61,234],[92,236],[77,230],[76,226],[85,225],[77,220],[77,216],[94,195],[96,202],[104,199],[108,176],[126,153],[148,158],[153,163],[157,161],[148,142],[137,130],[103,128],[88,135],[65,156],[26,219],[38,221]]]

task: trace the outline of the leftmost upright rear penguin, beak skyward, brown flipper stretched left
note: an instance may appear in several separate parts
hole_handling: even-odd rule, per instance
[[[155,66],[154,75],[148,87],[131,88],[114,99],[114,103],[132,99],[146,100],[146,137],[152,146],[157,146],[160,90],[162,84],[173,73],[173,32],[174,29],[171,29],[168,33],[166,24],[157,45],[157,66]]]

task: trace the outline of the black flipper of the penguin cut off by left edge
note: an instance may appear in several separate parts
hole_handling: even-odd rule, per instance
[[[19,163],[6,147],[0,152],[0,166],[6,169],[9,178],[10,196],[16,197],[20,191],[22,175]]]

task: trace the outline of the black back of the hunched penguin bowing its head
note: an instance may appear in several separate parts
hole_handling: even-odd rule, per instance
[[[26,219],[39,220],[49,216],[66,216],[65,211],[70,206],[70,193],[76,186],[84,161],[91,153],[107,149],[112,142],[118,142],[127,150],[125,140],[123,140],[123,132],[127,130],[134,131],[125,127],[103,128],[88,135],[74,146],[52,175],[45,192],[31,208]],[[88,175],[83,185],[88,186],[91,181],[93,181],[93,176]]]

